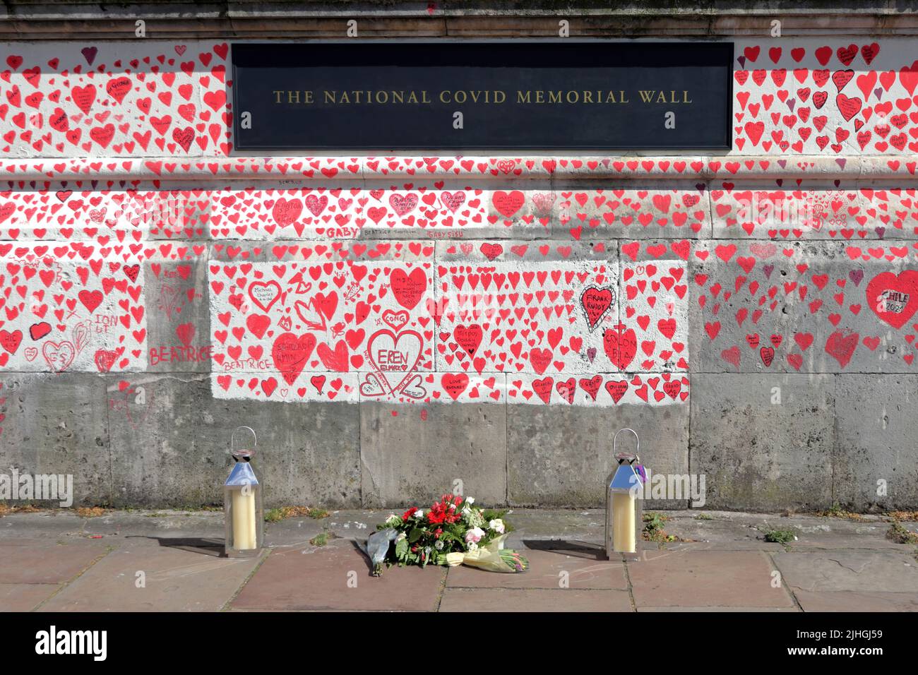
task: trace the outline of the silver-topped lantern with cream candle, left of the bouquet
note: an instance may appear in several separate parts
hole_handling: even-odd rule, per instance
[[[262,484],[252,470],[254,449],[236,449],[236,432],[251,427],[241,426],[229,438],[229,453],[236,464],[223,484],[223,512],[226,516],[227,557],[257,556],[262,550],[264,514],[262,510]],[[254,444],[252,445],[252,448]]]

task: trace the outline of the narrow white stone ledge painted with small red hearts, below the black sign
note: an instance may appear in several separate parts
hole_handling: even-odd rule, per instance
[[[341,167],[341,163],[347,167]],[[462,166],[461,163],[465,163]],[[294,169],[298,166],[297,169]],[[348,153],[315,157],[91,157],[0,160],[0,179],[165,181],[282,180],[341,183],[412,180],[737,180],[799,178],[821,180],[915,179],[918,155],[800,156],[780,155],[377,155]],[[323,173],[333,170],[332,174]]]

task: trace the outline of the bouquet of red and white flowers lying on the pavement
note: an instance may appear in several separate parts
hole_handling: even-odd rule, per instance
[[[493,572],[523,572],[529,562],[504,548],[512,527],[504,521],[506,511],[476,507],[475,499],[447,494],[428,512],[412,506],[398,516],[390,515],[376,526],[367,541],[367,555],[374,563],[374,576],[383,564],[470,565]]]

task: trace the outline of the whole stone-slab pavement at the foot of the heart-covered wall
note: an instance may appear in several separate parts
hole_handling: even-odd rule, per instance
[[[222,512],[69,510],[0,517],[0,610],[10,612],[918,611],[918,547],[890,523],[676,511],[641,560],[604,559],[601,511],[515,510],[523,574],[389,568],[357,542],[388,511],[266,523],[260,557],[221,557]],[[902,523],[918,532],[918,523]],[[787,544],[765,534],[789,530]],[[324,546],[310,543],[325,533]]]

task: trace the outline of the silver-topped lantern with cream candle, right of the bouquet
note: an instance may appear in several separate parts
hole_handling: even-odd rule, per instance
[[[633,453],[616,453],[619,433],[634,434]],[[606,557],[640,560],[641,531],[644,528],[642,498],[644,479],[639,473],[641,441],[633,429],[620,429],[612,438],[612,453],[617,466],[606,478]]]

